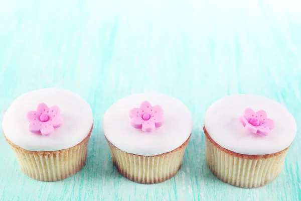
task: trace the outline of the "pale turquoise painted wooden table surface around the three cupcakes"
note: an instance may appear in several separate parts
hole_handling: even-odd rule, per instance
[[[64,87],[94,112],[87,163],[58,182],[27,177],[0,137],[0,200],[301,200],[301,133],[272,183],[225,184],[205,161],[203,115],[229,94],[263,95],[301,121],[298,1],[5,1],[0,6],[1,121],[26,91]],[[182,100],[194,129],[172,179],[143,185],[113,167],[101,121],[119,98],[158,91]]]

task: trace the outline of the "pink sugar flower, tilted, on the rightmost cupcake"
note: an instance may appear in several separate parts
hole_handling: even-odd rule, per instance
[[[267,115],[264,110],[254,112],[252,109],[248,108],[239,119],[247,131],[259,135],[267,136],[274,128],[274,121],[267,119]]]

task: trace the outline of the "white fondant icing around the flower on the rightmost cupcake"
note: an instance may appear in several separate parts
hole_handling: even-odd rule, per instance
[[[275,123],[268,136],[248,132],[239,117],[245,109],[265,110]],[[256,95],[231,95],[211,105],[205,113],[205,128],[221,147],[246,155],[273,154],[287,148],[297,128],[293,116],[274,100]]]

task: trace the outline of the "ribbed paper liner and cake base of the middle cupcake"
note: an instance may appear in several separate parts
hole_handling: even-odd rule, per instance
[[[125,178],[144,184],[166,181],[181,168],[190,137],[177,149],[156,155],[141,156],[121,151],[108,140],[114,166]]]

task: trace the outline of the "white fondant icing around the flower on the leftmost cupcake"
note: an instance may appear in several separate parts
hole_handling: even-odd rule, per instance
[[[35,111],[38,104],[61,109],[63,125],[49,136],[31,133],[26,115]],[[89,134],[93,125],[93,114],[89,104],[78,94],[59,88],[44,88],[18,97],[3,118],[6,137],[29,151],[57,151],[79,144]]]

